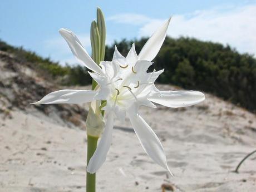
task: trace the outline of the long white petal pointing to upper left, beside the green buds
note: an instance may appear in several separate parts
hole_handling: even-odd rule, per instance
[[[92,60],[90,55],[88,55],[85,48],[83,48],[81,42],[72,31],[70,31],[69,29],[61,28],[59,32],[61,36],[66,40],[73,55],[80,63],[85,65],[88,69],[99,73],[100,75],[104,75],[101,68]]]

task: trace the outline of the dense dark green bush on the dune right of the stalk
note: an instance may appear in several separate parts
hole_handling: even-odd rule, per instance
[[[138,53],[146,40],[135,41]],[[115,42],[124,55],[131,44],[126,40]],[[114,48],[114,45],[107,47],[106,60],[111,60]],[[149,70],[152,68],[165,68],[157,79],[159,83],[210,92],[249,110],[256,110],[256,60],[229,46],[194,38],[167,37]]]

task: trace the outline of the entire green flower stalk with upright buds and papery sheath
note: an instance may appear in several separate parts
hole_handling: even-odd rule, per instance
[[[92,59],[100,64],[105,57],[105,41],[106,41],[106,25],[104,15],[101,9],[97,8],[97,22],[91,23],[91,48]],[[92,90],[97,88],[97,82],[92,79]],[[99,139],[105,123],[103,114],[104,111],[100,109],[101,101],[92,101],[88,116],[86,119],[87,129],[87,165],[97,148],[97,140]],[[86,191],[95,192],[96,188],[96,174],[86,173]]]

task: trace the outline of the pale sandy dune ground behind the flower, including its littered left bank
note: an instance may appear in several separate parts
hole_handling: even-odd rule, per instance
[[[0,52],[0,192],[85,191],[87,105],[29,105],[65,88],[37,65]],[[159,136],[175,177],[146,156],[126,119],[115,124],[106,163],[97,173],[98,191],[160,192],[162,184],[178,192],[255,189],[255,156],[233,173],[255,150],[251,112],[206,94],[200,105],[143,107],[141,115]]]

